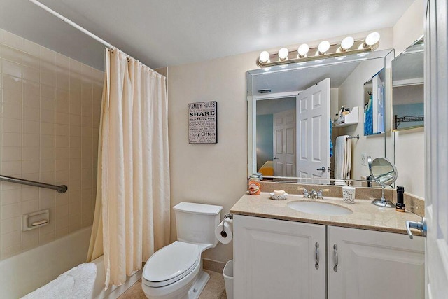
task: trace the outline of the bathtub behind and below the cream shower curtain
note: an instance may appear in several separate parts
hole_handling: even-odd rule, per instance
[[[20,298],[27,295],[59,274],[85,262],[92,227],[83,228],[48,244],[0,261],[1,298]],[[91,299],[118,298],[141,277],[141,270],[128,277],[122,286],[110,286],[104,291],[104,259],[99,257],[92,263],[97,265],[97,279]]]

